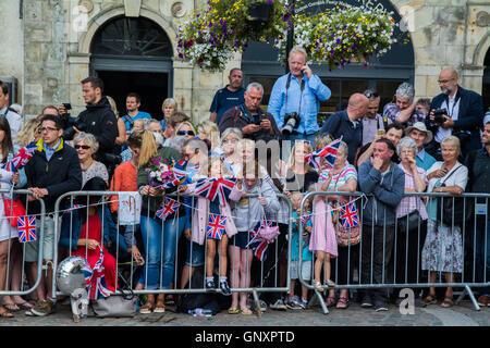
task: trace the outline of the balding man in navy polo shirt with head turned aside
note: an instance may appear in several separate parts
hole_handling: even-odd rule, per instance
[[[330,115],[321,127],[320,134],[330,134],[335,139],[348,146],[348,163],[356,165],[357,153],[363,146],[363,122],[360,119],[367,113],[369,99],[362,94],[354,94],[348,98],[347,109]]]

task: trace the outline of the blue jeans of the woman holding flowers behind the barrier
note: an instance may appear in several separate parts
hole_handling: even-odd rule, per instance
[[[162,222],[160,219],[142,215],[140,228],[147,254],[142,283],[149,290],[168,289],[172,283],[176,244],[184,231],[185,216],[168,219],[163,226]]]

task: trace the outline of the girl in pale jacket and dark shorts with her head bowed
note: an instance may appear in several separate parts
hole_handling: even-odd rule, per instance
[[[241,190],[242,199],[234,204],[233,217],[238,233],[230,240],[230,256],[232,261],[232,287],[246,288],[250,282],[253,252],[247,245],[252,240],[250,232],[257,226],[267,212],[280,209],[275,192],[266,181],[259,179],[259,166],[256,161],[245,162],[243,176],[240,176],[235,187]],[[247,194],[258,194],[259,197],[248,198]],[[238,309],[240,296],[240,309]],[[233,293],[230,314],[249,315],[247,308],[247,293]]]

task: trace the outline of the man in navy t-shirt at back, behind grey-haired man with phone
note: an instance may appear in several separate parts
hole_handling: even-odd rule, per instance
[[[232,69],[228,78],[230,79],[230,84],[216,92],[211,108],[209,109],[209,112],[211,112],[209,120],[217,124],[220,124],[221,116],[224,112],[245,102],[243,96],[245,89],[242,87],[242,71],[237,67]]]

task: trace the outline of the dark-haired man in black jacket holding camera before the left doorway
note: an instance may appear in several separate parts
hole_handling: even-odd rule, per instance
[[[102,91],[103,83],[100,78],[87,77],[82,80],[82,92],[87,109],[78,117],[70,119],[63,139],[71,140],[79,132],[93,134],[99,142],[99,150],[95,157],[109,169],[120,163],[119,158],[114,156],[115,138],[119,132],[115,115],[109,100],[102,97]],[[65,104],[60,105],[60,113],[62,115],[68,113]]]

